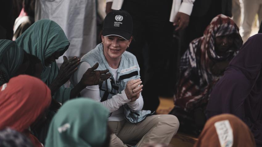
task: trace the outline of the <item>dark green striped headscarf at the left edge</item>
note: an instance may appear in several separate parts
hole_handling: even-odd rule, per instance
[[[23,60],[24,51],[14,41],[0,40],[0,70],[4,74],[0,75],[0,86],[14,77]]]

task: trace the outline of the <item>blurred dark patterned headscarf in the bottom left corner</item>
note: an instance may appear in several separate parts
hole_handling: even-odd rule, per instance
[[[31,141],[26,136],[11,128],[5,128],[0,131],[0,146],[33,147]]]

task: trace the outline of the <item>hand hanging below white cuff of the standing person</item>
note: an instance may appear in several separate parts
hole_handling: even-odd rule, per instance
[[[178,12],[177,15],[175,16],[175,20],[173,23],[174,26],[177,26],[175,30],[178,31],[178,30],[185,29],[189,24],[189,17],[190,16],[185,13]]]

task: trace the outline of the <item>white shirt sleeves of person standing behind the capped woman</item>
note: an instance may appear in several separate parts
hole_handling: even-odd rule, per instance
[[[191,15],[194,1],[195,0],[183,0],[181,3],[181,0],[173,0],[169,21],[174,22],[175,16],[178,12]],[[121,9],[124,0],[106,0],[106,2],[113,2],[111,9],[119,10]]]

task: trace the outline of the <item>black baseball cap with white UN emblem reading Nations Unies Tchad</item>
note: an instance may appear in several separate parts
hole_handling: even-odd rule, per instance
[[[129,40],[133,33],[133,19],[124,10],[114,10],[109,12],[103,24],[103,36],[120,36]]]

